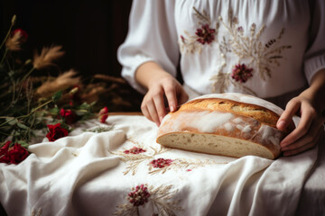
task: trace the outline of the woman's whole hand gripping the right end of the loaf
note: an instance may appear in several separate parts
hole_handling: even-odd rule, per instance
[[[296,129],[280,143],[283,156],[292,156],[313,148],[324,134],[325,116],[309,96],[308,89],[287,103],[285,111],[277,122],[277,128],[284,130],[296,113],[300,113],[301,121]]]

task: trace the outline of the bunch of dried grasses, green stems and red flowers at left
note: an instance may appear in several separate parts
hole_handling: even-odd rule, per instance
[[[54,141],[67,136],[76,122],[89,118],[105,122],[108,109],[97,101],[108,91],[123,91],[126,85],[122,78],[105,75],[95,75],[85,84],[72,69],[56,77],[32,76],[35,70],[54,66],[64,51],[52,45],[35,52],[32,59],[15,59],[14,54],[28,39],[27,32],[13,31],[15,22],[14,15],[0,45],[0,162],[7,164],[18,164],[28,157],[29,143],[37,131],[45,131],[49,141]],[[125,103],[120,94],[109,95],[105,103],[132,105]]]

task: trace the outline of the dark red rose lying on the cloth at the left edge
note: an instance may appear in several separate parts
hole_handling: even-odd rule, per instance
[[[0,163],[19,164],[29,156],[26,148],[23,148],[20,144],[15,143],[11,148],[10,144],[11,141],[7,141],[5,146],[0,148]]]

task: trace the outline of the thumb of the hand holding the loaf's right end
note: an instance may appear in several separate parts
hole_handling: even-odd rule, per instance
[[[301,103],[294,99],[287,103],[284,112],[276,123],[276,128],[278,130],[285,130],[290,124],[292,124],[292,117],[300,110],[300,107]]]

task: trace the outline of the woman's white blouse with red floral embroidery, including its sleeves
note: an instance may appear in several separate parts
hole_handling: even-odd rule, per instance
[[[117,57],[142,93],[137,67],[155,61],[176,76],[180,60],[198,94],[278,96],[325,67],[325,1],[135,0]]]

